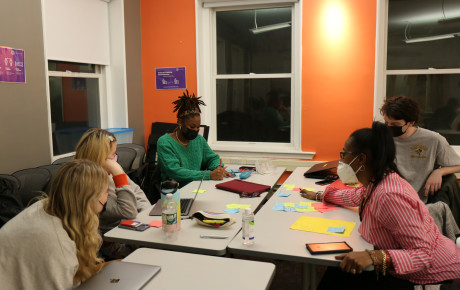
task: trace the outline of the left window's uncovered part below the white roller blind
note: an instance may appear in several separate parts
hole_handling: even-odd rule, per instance
[[[48,61],[53,155],[75,151],[86,130],[101,127],[100,67]]]

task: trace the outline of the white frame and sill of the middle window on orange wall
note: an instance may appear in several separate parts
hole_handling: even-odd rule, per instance
[[[205,1],[212,2],[212,1]],[[207,104],[202,108],[201,122],[210,125],[208,143],[217,152],[226,156],[266,156],[286,158],[306,158],[314,156],[313,152],[301,152],[301,68],[302,68],[302,1],[226,1],[215,5],[203,5],[203,0],[196,0],[196,35],[197,35],[197,94]],[[286,3],[288,2],[288,3]],[[257,4],[257,5],[255,5]],[[204,7],[206,6],[206,7]],[[213,6],[213,7],[208,7]],[[274,7],[292,7],[292,57],[289,74],[258,74],[254,78],[291,78],[291,142],[229,142],[217,141],[216,114],[216,80],[242,79],[247,75],[217,75],[216,66],[216,11],[238,9],[261,9]]]

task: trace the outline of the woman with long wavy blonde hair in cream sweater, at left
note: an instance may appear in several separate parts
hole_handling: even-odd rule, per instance
[[[0,229],[2,289],[71,289],[99,270],[98,214],[107,203],[107,172],[73,160],[56,173],[48,198]]]

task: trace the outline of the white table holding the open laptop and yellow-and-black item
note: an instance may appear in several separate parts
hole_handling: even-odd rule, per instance
[[[236,166],[235,166],[236,167]],[[236,167],[237,168],[237,167]],[[254,172],[247,181],[269,185],[273,187],[280,176],[285,171],[284,167],[277,167],[271,174],[261,175]],[[206,190],[198,193],[193,203],[191,213],[205,210],[211,212],[224,212],[227,204],[250,204],[253,209],[264,200],[267,192],[257,198],[240,198],[238,194],[220,190],[216,184],[230,180],[229,178],[214,181],[203,181],[201,189]],[[198,188],[199,181],[191,182],[180,189],[181,197],[193,197],[195,189]],[[149,216],[150,208],[136,217],[136,221],[149,223],[154,220],[161,220],[160,216]],[[161,228],[149,228],[143,232],[136,232],[126,229],[114,228],[104,235],[104,240],[109,242],[120,242],[134,244],[150,248],[166,250],[176,250],[206,255],[225,255],[227,245],[241,229],[241,210],[240,213],[232,215],[236,222],[227,228],[211,228],[198,225],[195,220],[186,219],[181,221],[181,230],[174,239],[168,239]],[[203,239],[200,235],[227,236],[226,239]]]

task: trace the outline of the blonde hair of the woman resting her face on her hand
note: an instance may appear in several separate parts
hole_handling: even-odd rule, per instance
[[[112,142],[115,141],[117,139],[111,132],[99,128],[89,129],[78,142],[74,159],[88,159],[103,166],[110,154]]]

